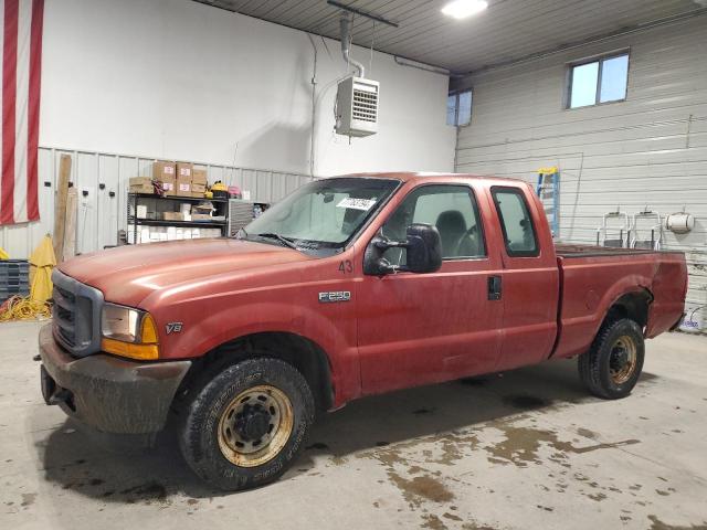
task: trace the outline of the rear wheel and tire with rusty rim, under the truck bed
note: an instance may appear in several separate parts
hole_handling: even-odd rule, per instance
[[[641,327],[627,318],[614,320],[602,326],[589,351],[579,357],[579,375],[598,398],[625,398],[641,377],[644,357]]]

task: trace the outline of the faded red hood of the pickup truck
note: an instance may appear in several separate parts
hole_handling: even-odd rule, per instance
[[[211,239],[119,246],[75,257],[59,269],[99,289],[107,301],[138,306],[152,292],[179,284],[309,259],[266,243]]]

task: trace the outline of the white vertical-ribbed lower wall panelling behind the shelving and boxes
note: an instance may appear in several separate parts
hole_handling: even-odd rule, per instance
[[[54,190],[59,180],[59,161],[62,153],[72,157],[70,180],[78,189],[76,245],[80,253],[116,244],[118,230],[127,229],[129,179],[149,176],[151,163],[156,160],[141,156],[40,147],[41,221],[0,227],[0,247],[13,258],[28,257],[42,236],[51,234],[54,230]],[[249,190],[252,200],[257,202],[275,202],[312,180],[305,174],[207,162],[194,163],[207,169],[209,182],[221,180],[228,186]],[[104,184],[103,189],[101,184]],[[112,198],[110,192],[114,192],[115,197]]]

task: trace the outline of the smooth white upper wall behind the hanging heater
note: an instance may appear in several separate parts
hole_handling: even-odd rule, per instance
[[[314,45],[314,174],[452,170],[445,76],[374,53],[380,131],[349,142],[333,134],[339,42]],[[40,144],[309,173],[314,53],[304,32],[190,0],[46,2]]]

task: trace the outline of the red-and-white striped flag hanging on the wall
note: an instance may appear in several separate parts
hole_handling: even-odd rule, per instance
[[[44,0],[0,0],[0,225],[40,219],[36,155],[43,17]]]

